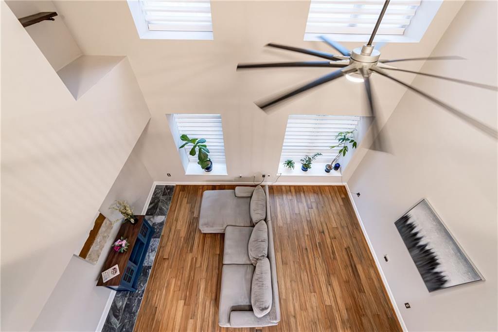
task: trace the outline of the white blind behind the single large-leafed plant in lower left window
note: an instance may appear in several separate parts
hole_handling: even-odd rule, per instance
[[[173,114],[178,134],[186,134],[189,138],[206,139],[209,158],[213,162],[225,162],[225,144],[223,128],[219,114]],[[184,142],[180,142],[183,144]],[[184,147],[189,162],[197,163],[197,155],[189,155],[192,145]]]

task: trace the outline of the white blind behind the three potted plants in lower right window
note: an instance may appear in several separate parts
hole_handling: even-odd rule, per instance
[[[339,142],[335,136],[357,128],[360,117],[334,115],[289,115],[280,163],[298,162],[305,155],[321,153],[316,162],[330,163],[339,149],[329,149]]]

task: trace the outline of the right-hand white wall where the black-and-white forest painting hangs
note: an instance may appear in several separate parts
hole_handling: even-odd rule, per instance
[[[468,60],[427,61],[421,71],[497,85],[496,17],[496,1],[467,1],[433,55]],[[496,92],[424,77],[414,83],[496,128]],[[384,128],[393,154],[368,152],[348,184],[361,192],[355,203],[408,330],[497,331],[497,141],[411,92]],[[421,198],[486,281],[428,293],[394,226]]]

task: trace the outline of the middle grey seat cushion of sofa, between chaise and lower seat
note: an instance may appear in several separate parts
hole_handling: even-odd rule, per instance
[[[223,264],[251,264],[248,246],[252,227],[228,226],[223,244]]]

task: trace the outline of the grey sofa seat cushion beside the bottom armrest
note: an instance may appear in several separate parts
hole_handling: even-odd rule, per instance
[[[254,266],[252,264],[223,265],[218,310],[218,324],[221,327],[230,327],[230,312],[233,310],[250,310],[253,274]]]

